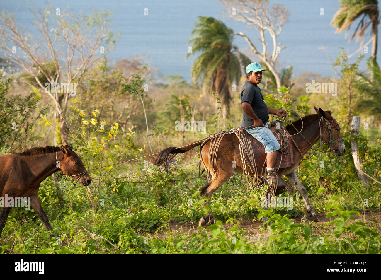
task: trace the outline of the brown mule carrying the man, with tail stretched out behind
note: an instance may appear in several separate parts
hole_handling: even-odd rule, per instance
[[[294,144],[291,147],[293,149],[294,163],[287,168],[280,168],[277,171],[279,180],[277,181],[277,186],[275,186],[275,195],[281,194],[288,188],[286,182],[281,178],[281,176],[285,175],[302,195],[307,211],[310,213],[312,219],[315,219],[317,214],[313,210],[307,196],[306,188],[296,176],[295,170],[304,155],[319,140],[334,150],[334,153],[337,156],[342,155],[345,152],[340,126],[335,118],[332,117],[332,113],[330,111],[323,111],[321,108],[319,108],[319,110],[315,108],[315,110],[317,114],[306,115],[286,127],[290,135],[295,134],[292,136]],[[299,131],[300,133],[298,133]],[[249,170],[248,175],[250,176],[265,176],[265,172],[261,171],[264,170],[262,167],[266,166],[264,146],[255,138],[249,135],[249,137],[251,137],[251,145],[256,163],[256,170],[253,173],[250,171],[250,166],[244,166],[242,163],[239,149],[239,138],[234,133],[224,134],[223,136],[218,137],[218,141],[220,142],[217,146],[215,145],[216,141],[213,141],[213,138],[205,138],[200,141],[192,142],[181,148],[170,147],[162,150],[156,158],[150,158],[150,161],[155,165],[162,165],[176,154],[184,153],[194,147],[200,146],[200,161],[203,163],[208,174],[210,174],[210,176],[208,176],[208,183],[200,189],[201,197],[207,196],[210,198],[213,192],[221,187],[234,172],[244,174]],[[211,150],[213,150],[212,154],[214,154],[212,157],[210,156]],[[211,158],[213,162],[209,162]],[[232,165],[232,162],[235,164]],[[208,200],[207,203],[210,203],[210,200]],[[213,222],[212,213],[207,213],[205,217],[201,218],[199,224],[203,225],[208,222]]]

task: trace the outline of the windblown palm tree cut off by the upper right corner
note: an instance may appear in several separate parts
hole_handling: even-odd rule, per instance
[[[377,54],[377,32],[378,32],[378,2],[377,0],[339,0],[340,9],[333,16],[331,25],[337,27],[336,32],[343,32],[349,28],[351,24],[361,18],[357,25],[352,37],[357,37],[356,42],[361,38],[361,45],[364,42],[365,29],[371,25],[372,29],[372,58],[376,60]]]

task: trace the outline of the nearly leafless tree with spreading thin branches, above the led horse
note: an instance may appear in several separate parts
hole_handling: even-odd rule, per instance
[[[69,98],[74,96],[71,95],[74,92],[69,91],[75,90],[76,84],[87,69],[115,49],[116,41],[113,40],[107,43],[106,51],[98,55],[103,48],[102,40],[112,35],[110,14],[94,11],[92,16],[84,17],[82,13],[62,11],[62,15],[57,17],[51,13],[53,7],[49,4],[44,11],[34,10],[34,7],[28,8],[35,16],[34,28],[37,33],[43,34],[40,44],[30,44],[34,33],[21,30],[14,14],[5,14],[0,17],[0,50],[4,58],[20,66],[27,75],[33,77],[42,90],[47,89],[47,83],[44,81],[48,81],[50,87],[45,93],[53,99],[56,110],[54,120],[59,119],[59,134],[64,140],[69,134],[64,118]],[[75,26],[67,24],[74,20]],[[94,30],[96,31],[93,32]],[[17,55],[11,47],[18,51]],[[52,66],[47,67],[46,61],[51,62]],[[61,92],[62,82],[70,85],[70,90],[65,88],[67,92]],[[61,86],[56,89],[56,84]]]

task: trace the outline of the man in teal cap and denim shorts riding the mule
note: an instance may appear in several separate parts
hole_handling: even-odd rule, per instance
[[[286,111],[283,109],[272,109],[264,102],[262,91],[258,87],[258,84],[262,80],[262,71],[266,70],[262,69],[261,64],[256,62],[250,63],[246,67],[247,81],[241,91],[242,126],[265,147],[265,183],[269,184],[280,146],[274,134],[266,126],[269,124],[269,114],[284,117]]]

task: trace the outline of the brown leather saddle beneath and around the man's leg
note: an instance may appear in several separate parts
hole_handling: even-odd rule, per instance
[[[278,140],[280,149],[278,150],[277,160],[275,162],[275,169],[278,168],[286,168],[294,164],[294,155],[292,150],[292,139],[290,133],[286,130],[285,126],[279,120],[274,122],[269,122],[269,126],[271,126],[271,131],[274,134],[275,138]],[[255,139],[250,133],[243,129],[242,126],[240,128],[239,137],[250,139],[253,150],[259,152],[261,155],[266,157],[264,146],[261,142]]]

